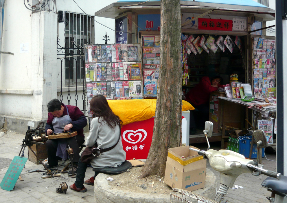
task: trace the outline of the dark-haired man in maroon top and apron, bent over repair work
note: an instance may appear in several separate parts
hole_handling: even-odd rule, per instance
[[[48,119],[45,127],[46,135],[53,133],[62,133],[63,131],[77,131],[78,135],[69,138],[48,139],[46,142],[48,164],[47,168],[54,168],[58,166],[58,157],[66,160],[68,155],[66,149],[73,148],[73,167],[74,174],[77,173],[77,165],[80,159],[79,147],[84,143],[84,130],[87,125],[87,119],[82,111],[71,105],[65,105],[58,99],[52,99],[48,104]],[[69,171],[68,175],[73,172]]]

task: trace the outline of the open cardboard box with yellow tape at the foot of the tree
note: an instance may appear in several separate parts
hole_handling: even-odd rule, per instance
[[[204,187],[206,160],[190,147],[196,148],[181,146],[168,149],[164,182],[172,188],[194,191]]]

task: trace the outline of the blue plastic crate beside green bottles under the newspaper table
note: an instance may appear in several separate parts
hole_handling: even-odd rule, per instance
[[[247,157],[247,158],[249,157],[251,138],[252,138],[252,135],[239,138],[240,139],[239,153],[244,155],[244,157]],[[254,141],[251,159],[255,159],[256,157],[257,157],[257,146],[256,146],[256,142]],[[262,157],[264,157],[264,148],[262,148]]]

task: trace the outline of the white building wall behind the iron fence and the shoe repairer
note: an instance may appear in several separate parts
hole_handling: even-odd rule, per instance
[[[57,10],[94,13],[115,1],[58,0]],[[50,1],[52,5],[52,1]],[[0,115],[47,118],[47,102],[59,98],[60,63],[57,59],[57,28],[60,44],[65,43],[65,23],[57,23],[57,14],[50,11],[32,13],[25,8],[23,1],[5,1],[2,51],[14,55],[1,54],[0,64]],[[95,17],[95,19],[114,29],[114,20]],[[95,42],[104,44],[103,35],[107,32],[114,43],[115,33],[95,23]],[[21,51],[21,45],[26,49]],[[63,72],[63,76],[64,76]],[[63,79],[63,81],[65,81]],[[65,87],[65,84],[63,85]],[[64,88],[64,91],[66,89]],[[82,90],[78,88],[78,90]],[[66,93],[64,93],[66,94]],[[73,92],[71,104],[75,104]],[[82,92],[78,92],[78,104],[82,105]],[[64,95],[64,101],[67,96]],[[67,102],[65,102],[67,103]],[[79,106],[80,109],[82,107]]]

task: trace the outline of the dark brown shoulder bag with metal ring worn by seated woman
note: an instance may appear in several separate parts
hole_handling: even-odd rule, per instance
[[[119,130],[119,139],[121,138],[121,129]],[[118,142],[119,142],[119,139],[117,140],[117,143],[114,144],[113,146],[111,147],[108,147],[108,148],[105,148],[105,149],[102,149],[102,148],[98,148],[97,147],[97,142],[92,146],[92,147],[86,147],[84,149],[84,151],[82,152],[82,155],[81,155],[81,162],[85,163],[85,164],[89,164],[91,162],[91,160],[97,156],[100,156],[101,153],[103,152],[106,152],[106,151],[109,151],[111,150],[112,148],[114,148]]]

